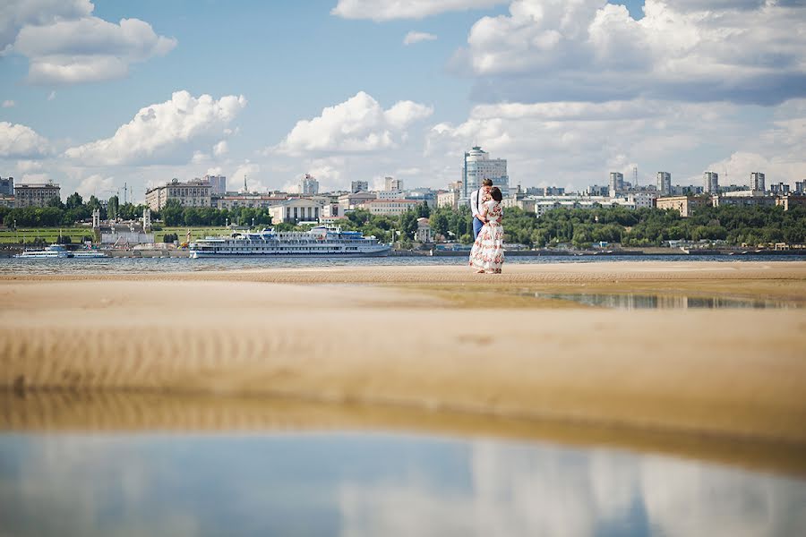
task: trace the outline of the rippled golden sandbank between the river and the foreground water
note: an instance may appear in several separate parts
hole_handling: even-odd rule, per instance
[[[2,275],[0,384],[17,394],[4,426],[43,426],[25,401],[63,390],[279,396],[806,447],[806,310],[532,300],[630,291],[803,305],[806,262]]]

